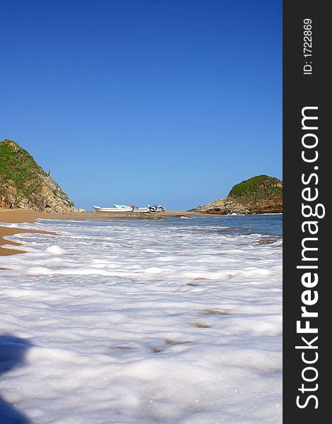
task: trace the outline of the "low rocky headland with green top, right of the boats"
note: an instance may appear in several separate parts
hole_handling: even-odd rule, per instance
[[[191,209],[197,213],[282,213],[283,182],[268,175],[257,175],[232,187],[225,199]]]

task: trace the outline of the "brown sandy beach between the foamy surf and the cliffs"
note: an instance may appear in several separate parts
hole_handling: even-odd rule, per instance
[[[18,242],[4,239],[6,235],[15,235],[23,232],[38,232],[41,234],[55,234],[54,232],[41,231],[41,230],[27,230],[23,228],[7,227],[6,224],[16,223],[35,223],[37,219],[49,220],[121,220],[121,219],[143,219],[143,220],[162,220],[170,217],[180,216],[211,216],[210,213],[195,213],[186,211],[163,211],[163,212],[150,212],[150,213],[132,213],[132,212],[119,212],[119,213],[105,213],[105,212],[75,212],[75,213],[48,213],[30,211],[28,209],[1,209],[0,208],[0,256],[9,256],[12,254],[26,253],[25,250],[11,249],[9,247],[2,247],[3,245],[20,246]]]

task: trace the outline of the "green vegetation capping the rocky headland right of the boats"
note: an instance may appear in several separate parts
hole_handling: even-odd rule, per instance
[[[268,177],[268,175],[257,175],[236,184],[232,187],[228,196],[250,198],[251,201],[259,201],[264,197],[283,198],[283,184],[280,179]]]

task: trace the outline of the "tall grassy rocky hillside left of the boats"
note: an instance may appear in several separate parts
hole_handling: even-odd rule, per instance
[[[51,213],[76,211],[59,184],[12,140],[0,141],[0,208]]]

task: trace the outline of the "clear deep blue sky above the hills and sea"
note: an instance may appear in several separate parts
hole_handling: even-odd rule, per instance
[[[0,139],[77,207],[282,178],[281,0],[0,0]]]

